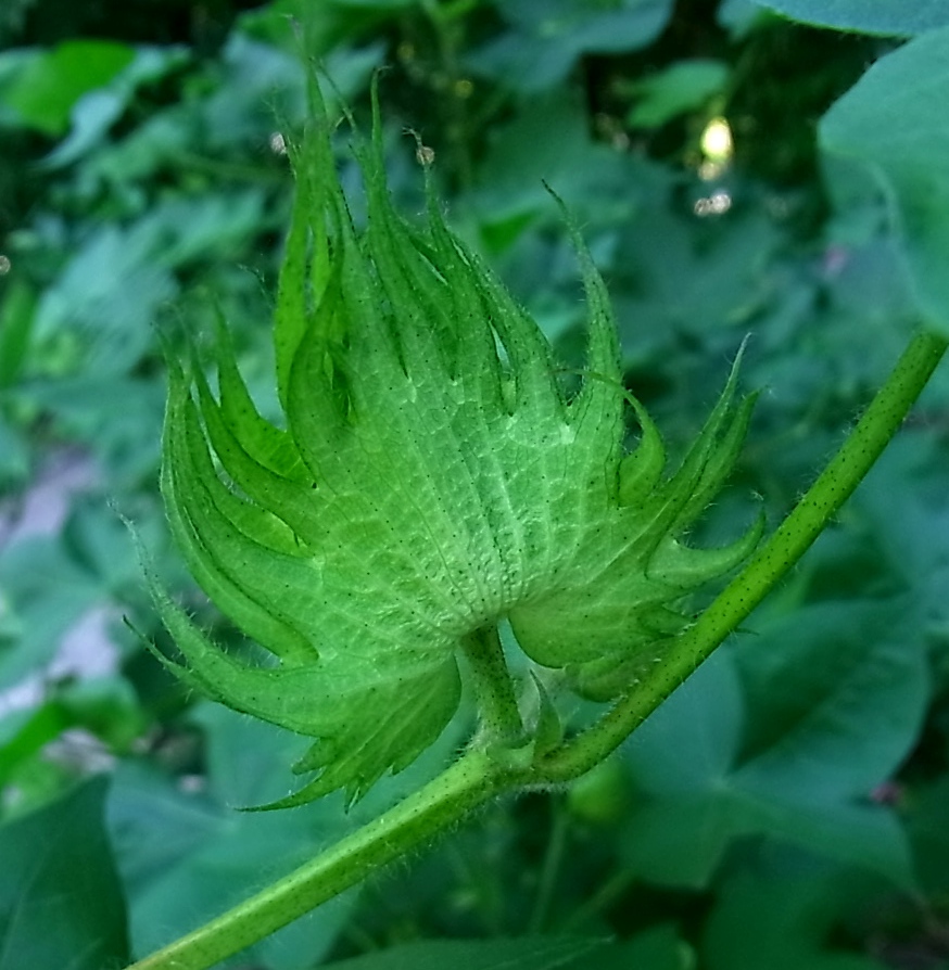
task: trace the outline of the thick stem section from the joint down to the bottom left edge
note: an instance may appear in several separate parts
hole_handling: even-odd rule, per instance
[[[431,841],[509,787],[489,754],[470,751],[394,808],[129,970],[207,970]]]

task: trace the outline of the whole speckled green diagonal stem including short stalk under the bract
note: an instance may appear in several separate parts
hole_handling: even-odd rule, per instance
[[[226,957],[339,895],[371,872],[430,842],[479,805],[518,788],[569,781],[607,757],[797,563],[873,465],[946,350],[931,333],[913,337],[863,417],[771,539],[712,601],[655,671],[600,720],[534,763],[471,750],[425,788],[294,872],[129,970],[207,970]],[[466,653],[482,697],[502,728],[520,724],[496,630]],[[528,749],[517,754],[526,755]]]

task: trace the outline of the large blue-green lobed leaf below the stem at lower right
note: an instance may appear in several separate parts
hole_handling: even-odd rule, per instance
[[[765,833],[912,885],[904,833],[869,797],[925,711],[912,616],[902,599],[798,609],[742,643],[744,688],[729,654],[707,662],[625,745],[628,865],[704,886],[735,839]]]

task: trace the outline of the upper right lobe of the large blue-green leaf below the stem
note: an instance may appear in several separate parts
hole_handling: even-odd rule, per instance
[[[901,597],[832,601],[759,628],[760,641],[738,652],[754,722],[741,786],[833,801],[886,780],[915,742],[928,699],[918,616]]]

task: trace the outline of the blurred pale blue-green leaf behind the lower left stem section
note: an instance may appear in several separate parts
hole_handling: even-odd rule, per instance
[[[187,794],[130,765],[119,770],[110,803],[139,956],[302,865],[352,827],[334,799],[292,813],[236,812],[286,794],[287,760],[305,745],[219,706],[201,706],[192,719],[205,731],[207,788],[195,777],[201,793]],[[347,895],[319,907],[253,954],[271,970],[307,970],[332,945],[352,904]]]

